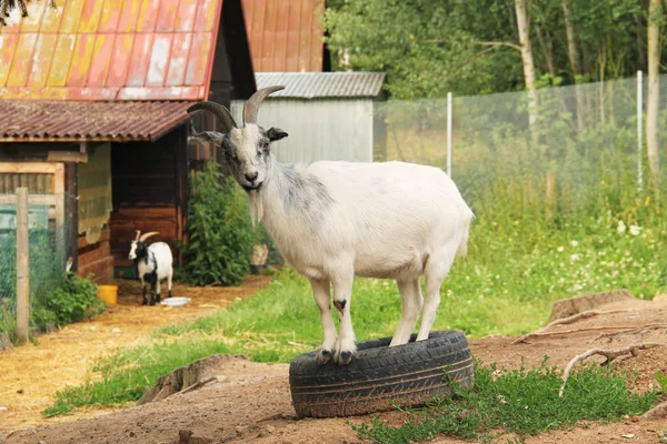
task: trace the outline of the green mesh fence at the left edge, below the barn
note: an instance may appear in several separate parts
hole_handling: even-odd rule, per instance
[[[11,194],[2,196],[8,195]],[[67,202],[66,195],[53,198]],[[64,205],[29,204],[28,233],[30,324],[44,326],[49,324],[49,313],[43,309],[46,299],[66,279],[69,216]],[[13,336],[17,315],[16,203],[0,203],[0,333],[8,332]]]

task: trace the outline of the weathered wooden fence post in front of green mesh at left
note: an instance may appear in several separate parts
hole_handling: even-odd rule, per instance
[[[17,339],[29,339],[30,269],[28,238],[28,189],[17,188]]]

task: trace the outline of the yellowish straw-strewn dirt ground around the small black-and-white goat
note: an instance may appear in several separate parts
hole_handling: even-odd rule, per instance
[[[156,329],[212,313],[252,295],[269,281],[268,276],[251,275],[240,286],[190,287],[175,283],[173,296],[191,301],[168,307],[142,306],[139,281],[118,280],[118,304],[107,305],[102,316],[39,336],[37,345],[0,354],[0,431],[98,414],[78,412],[74,416],[44,418],[41,411],[53,403],[57,391],[89,379],[81,369],[90,369],[99,356],[150,342]]]

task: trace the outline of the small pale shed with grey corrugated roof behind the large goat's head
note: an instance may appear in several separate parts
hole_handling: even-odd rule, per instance
[[[289,133],[276,155],[283,162],[347,160],[372,162],[384,150],[385,123],[377,115],[384,99],[382,72],[257,72],[257,88],[285,90],[269,95],[258,123]],[[232,101],[240,121],[243,102]]]

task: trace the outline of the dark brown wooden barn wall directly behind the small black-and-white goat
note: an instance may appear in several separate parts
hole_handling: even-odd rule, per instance
[[[111,149],[113,211],[111,254],[116,266],[128,259],[136,230],[158,231],[150,242],[167,242],[180,264],[187,203],[187,132],[181,125],[156,142],[115,143]]]

